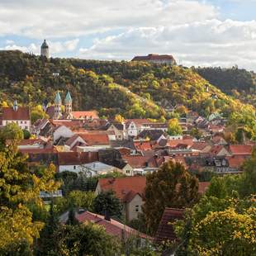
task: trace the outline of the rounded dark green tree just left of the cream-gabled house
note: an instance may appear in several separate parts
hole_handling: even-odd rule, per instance
[[[93,209],[96,213],[121,218],[121,202],[112,191],[101,192],[93,201]]]

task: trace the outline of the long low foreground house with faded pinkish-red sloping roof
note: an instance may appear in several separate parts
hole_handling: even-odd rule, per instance
[[[140,237],[141,242],[145,239],[150,239],[148,235],[140,233],[137,230],[130,228],[128,225],[124,225],[121,222],[111,219],[109,216],[101,216],[99,214],[92,213],[83,209],[75,211],[75,218],[79,223],[86,224],[91,222],[95,225],[100,225],[106,230],[108,235],[113,235],[118,239],[126,240],[130,236]],[[69,211],[64,212],[63,215],[59,216],[60,223],[65,224],[69,219]]]

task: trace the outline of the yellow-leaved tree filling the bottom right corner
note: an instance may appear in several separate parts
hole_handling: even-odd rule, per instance
[[[256,254],[256,210],[210,212],[195,227],[192,243],[200,255]]]

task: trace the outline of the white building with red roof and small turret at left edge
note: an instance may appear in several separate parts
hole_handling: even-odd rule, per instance
[[[22,130],[31,130],[31,113],[29,107],[18,107],[17,101],[13,107],[2,107],[2,126],[16,123]]]

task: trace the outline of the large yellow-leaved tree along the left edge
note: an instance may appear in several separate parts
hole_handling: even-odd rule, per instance
[[[32,243],[43,227],[33,220],[28,204],[41,205],[40,191],[52,192],[59,187],[53,180],[55,167],[39,172],[28,168],[26,156],[18,152],[23,134],[15,124],[0,131],[0,249],[26,240]]]

